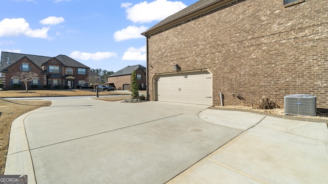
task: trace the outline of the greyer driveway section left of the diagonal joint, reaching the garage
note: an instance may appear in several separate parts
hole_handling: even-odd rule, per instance
[[[203,105],[52,103],[17,120],[24,124],[11,132],[6,174],[28,173],[29,183],[34,174],[37,183],[164,183],[242,132],[202,120]]]

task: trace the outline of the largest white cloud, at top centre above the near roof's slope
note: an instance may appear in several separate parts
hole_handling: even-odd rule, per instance
[[[154,20],[163,20],[166,17],[186,8],[182,2],[167,0],[155,0],[153,2],[141,2],[139,4],[121,4],[126,8],[127,18],[134,23],[149,23]]]

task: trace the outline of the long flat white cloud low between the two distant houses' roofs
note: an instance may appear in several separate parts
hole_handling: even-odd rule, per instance
[[[110,57],[117,57],[117,54],[114,52],[96,52],[96,53],[86,53],[80,51],[74,51],[70,54],[70,57],[81,59],[81,60],[101,60]]]

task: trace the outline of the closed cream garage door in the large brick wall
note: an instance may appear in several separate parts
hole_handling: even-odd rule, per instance
[[[161,75],[155,82],[158,101],[212,105],[212,74],[207,71]]]

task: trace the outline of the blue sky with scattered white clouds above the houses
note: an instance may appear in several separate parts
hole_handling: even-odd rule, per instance
[[[0,51],[67,55],[117,72],[146,66],[141,33],[198,0],[0,0]]]

